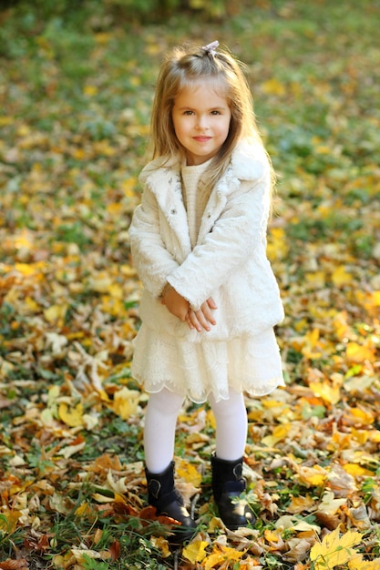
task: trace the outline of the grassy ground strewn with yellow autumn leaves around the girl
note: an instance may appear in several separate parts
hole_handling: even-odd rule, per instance
[[[379,3],[146,25],[117,3],[58,7],[0,13],[0,568],[379,568]],[[173,553],[144,503],[128,225],[159,61],[216,38],[249,65],[279,174],[287,388],[247,400],[244,532],[211,501],[211,412],[183,410],[177,473],[200,533]]]

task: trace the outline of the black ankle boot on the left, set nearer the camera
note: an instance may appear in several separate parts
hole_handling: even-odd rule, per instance
[[[174,486],[174,462],[161,473],[149,473],[145,468],[148,483],[148,502],[156,507],[157,514],[164,514],[178,521],[173,524],[169,542],[181,544],[195,534],[197,525],[183,504],[179,491]]]

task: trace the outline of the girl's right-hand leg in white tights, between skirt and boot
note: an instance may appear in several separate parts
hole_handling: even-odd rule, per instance
[[[247,411],[242,392],[230,388],[230,398],[215,402],[209,398],[216,421],[216,455],[219,459],[235,461],[244,454],[247,441]]]

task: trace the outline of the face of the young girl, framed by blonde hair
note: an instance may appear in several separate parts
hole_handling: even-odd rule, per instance
[[[231,109],[207,82],[183,87],[171,111],[174,130],[186,150],[187,164],[194,166],[212,158],[226,140]]]

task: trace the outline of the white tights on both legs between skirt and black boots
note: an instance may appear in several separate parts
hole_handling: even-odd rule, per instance
[[[242,393],[230,389],[230,398],[209,399],[216,421],[216,454],[235,461],[244,453],[247,439],[247,412]],[[183,404],[179,394],[166,388],[149,395],[145,415],[145,463],[150,473],[161,473],[173,459],[177,417]]]

